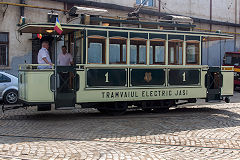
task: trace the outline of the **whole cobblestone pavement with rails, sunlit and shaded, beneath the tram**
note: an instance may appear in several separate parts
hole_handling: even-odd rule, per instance
[[[0,114],[0,159],[240,159],[240,94],[164,114],[90,109]]]

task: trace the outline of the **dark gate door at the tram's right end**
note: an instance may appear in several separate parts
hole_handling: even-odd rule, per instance
[[[210,67],[206,77],[205,84],[207,88],[206,101],[221,100],[221,88],[223,84],[223,76],[220,67]]]

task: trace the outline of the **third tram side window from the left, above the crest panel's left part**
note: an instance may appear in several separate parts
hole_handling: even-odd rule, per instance
[[[147,43],[146,40],[131,40],[130,42],[130,63],[146,64]]]

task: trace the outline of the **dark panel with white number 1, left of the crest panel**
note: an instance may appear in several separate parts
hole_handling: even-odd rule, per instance
[[[88,69],[87,87],[125,87],[126,77],[125,69]]]

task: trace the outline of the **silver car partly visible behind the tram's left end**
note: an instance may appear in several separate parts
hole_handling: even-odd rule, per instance
[[[18,78],[5,72],[0,72],[0,100],[5,104],[15,104],[18,101]]]

